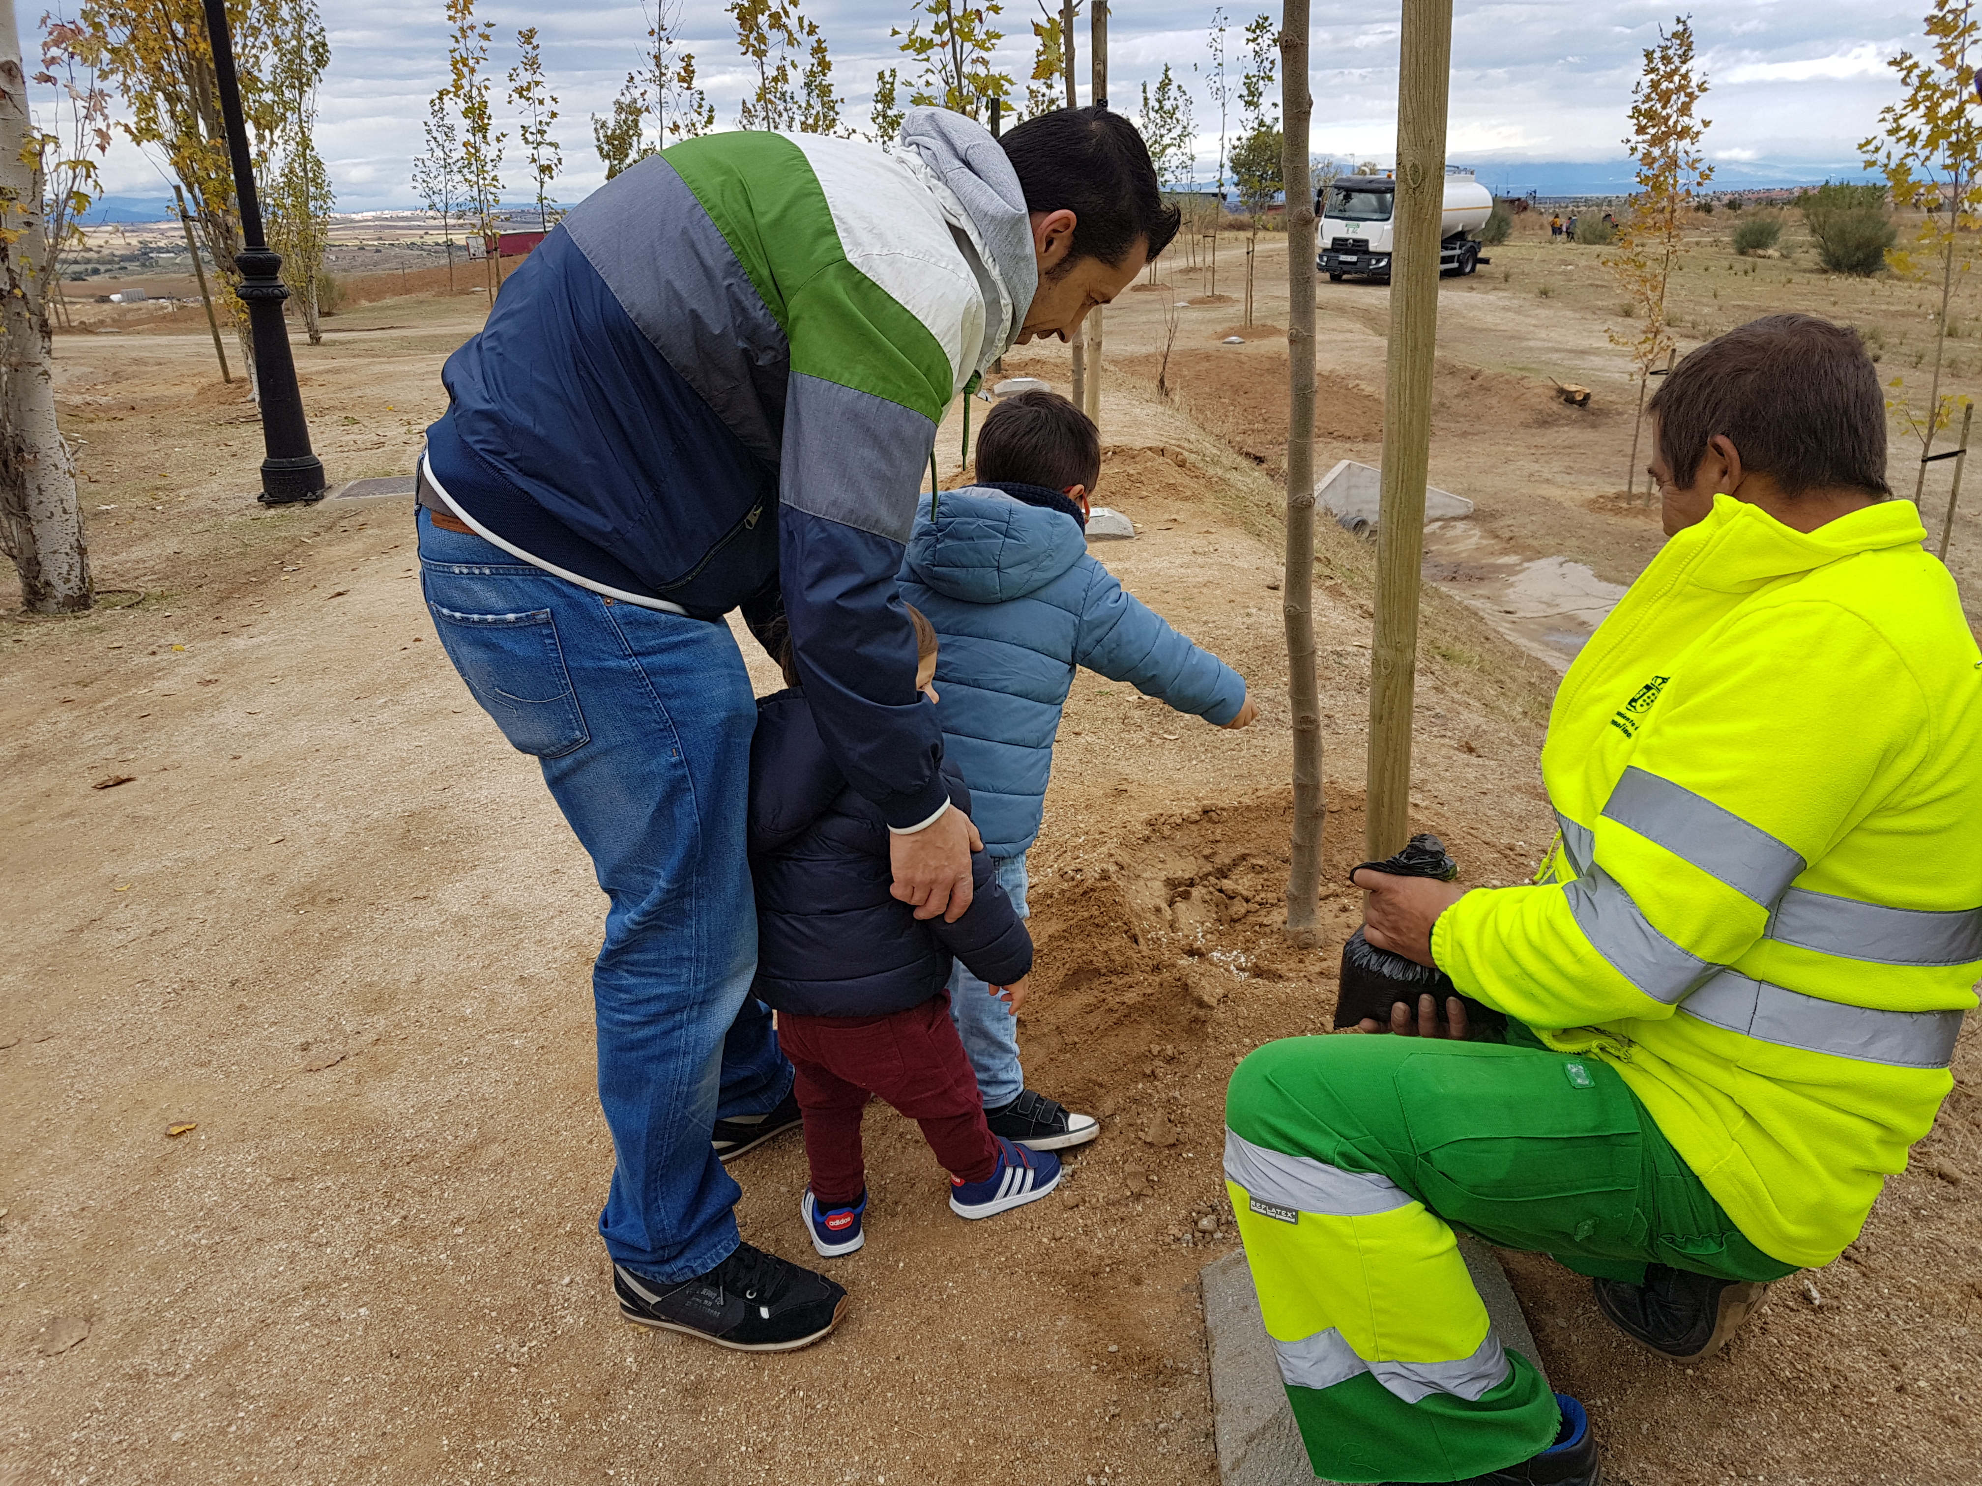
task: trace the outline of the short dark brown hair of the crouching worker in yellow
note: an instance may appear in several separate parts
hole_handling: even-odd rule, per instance
[[[1774,476],[1784,495],[1885,483],[1885,394],[1849,325],[1764,315],[1718,335],[1665,378],[1647,408],[1673,479],[1691,485],[1707,440],[1724,434],[1742,470]]]

